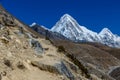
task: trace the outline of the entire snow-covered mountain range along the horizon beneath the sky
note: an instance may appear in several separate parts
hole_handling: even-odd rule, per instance
[[[34,26],[36,26],[35,23],[31,25],[32,28]],[[79,25],[69,14],[63,15],[52,29],[42,28],[48,30],[51,34],[59,35],[59,38],[61,38],[60,35],[62,35],[62,37],[64,36],[74,42],[97,42],[110,47],[120,48],[120,37],[113,34],[108,28],[104,28],[100,33],[96,33]],[[39,29],[34,30],[40,32]]]

